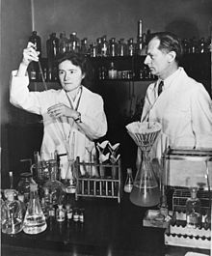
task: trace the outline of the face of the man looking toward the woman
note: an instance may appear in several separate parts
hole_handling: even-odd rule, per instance
[[[170,56],[169,53],[158,49],[160,41],[152,39],[147,46],[147,55],[145,64],[148,66],[152,74],[165,79],[170,69]]]

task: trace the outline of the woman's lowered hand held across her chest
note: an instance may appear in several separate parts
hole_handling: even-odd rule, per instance
[[[48,114],[52,118],[70,117],[76,119],[78,116],[77,111],[71,109],[63,103],[58,103],[48,108]]]

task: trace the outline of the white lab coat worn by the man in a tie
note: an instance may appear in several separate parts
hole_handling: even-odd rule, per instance
[[[165,147],[212,148],[212,101],[202,84],[189,77],[183,68],[168,88],[157,97],[157,83],[146,91],[142,120],[162,125],[151,150],[151,157],[162,156]],[[167,141],[167,142],[166,142]],[[167,144],[167,145],[166,145]],[[140,154],[138,155],[139,164]]]

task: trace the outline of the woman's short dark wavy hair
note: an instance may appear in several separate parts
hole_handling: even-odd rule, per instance
[[[85,78],[83,79],[84,85],[90,87],[90,83],[93,79],[93,69],[91,62],[85,54],[78,53],[75,51],[68,51],[65,53],[58,54],[56,58],[56,63],[59,66],[64,61],[71,61],[71,63],[81,69],[81,71],[85,74]]]

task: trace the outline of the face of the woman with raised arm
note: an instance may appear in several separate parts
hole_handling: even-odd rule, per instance
[[[73,65],[71,61],[66,60],[59,64],[59,79],[66,92],[78,88],[84,77],[81,68]]]

